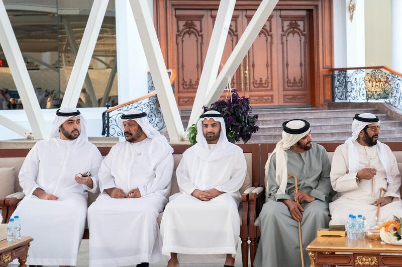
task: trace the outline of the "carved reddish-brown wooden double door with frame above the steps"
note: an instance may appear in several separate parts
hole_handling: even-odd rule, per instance
[[[219,1],[154,3],[162,53],[168,68],[177,70],[176,102],[182,109],[192,108]],[[236,3],[219,71],[259,4]],[[231,87],[249,97],[253,106],[319,106],[331,100],[330,91],[322,92],[331,86],[331,10],[330,0],[279,1],[232,77]]]

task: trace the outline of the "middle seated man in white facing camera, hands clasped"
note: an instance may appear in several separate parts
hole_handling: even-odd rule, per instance
[[[163,213],[162,253],[171,256],[168,266],[178,266],[179,259],[225,257],[233,266],[246,160],[228,141],[219,112],[200,116],[197,131],[197,143],[183,153],[176,170],[180,192],[169,198]]]

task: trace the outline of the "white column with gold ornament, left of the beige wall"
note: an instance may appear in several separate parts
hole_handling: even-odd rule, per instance
[[[347,68],[365,67],[366,50],[364,38],[364,0],[354,0],[356,9],[353,21],[350,21],[349,3],[346,1],[346,66]]]

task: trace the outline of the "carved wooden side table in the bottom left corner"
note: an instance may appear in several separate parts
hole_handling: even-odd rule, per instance
[[[18,258],[20,267],[26,267],[25,262],[27,261],[28,249],[32,240],[34,239],[31,236],[23,236],[21,240],[11,243],[7,239],[0,241],[0,266],[6,266]]]

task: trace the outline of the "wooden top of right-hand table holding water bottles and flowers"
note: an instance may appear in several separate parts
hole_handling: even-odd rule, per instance
[[[371,241],[369,238],[348,240],[340,236],[318,236],[311,242],[307,251],[326,252],[372,252],[372,253],[402,253],[402,246],[390,245],[381,240]]]

